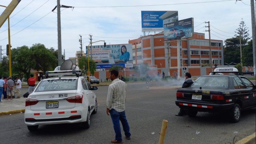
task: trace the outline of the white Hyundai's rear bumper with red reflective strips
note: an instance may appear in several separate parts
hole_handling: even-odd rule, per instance
[[[24,113],[25,125],[53,125],[64,123],[84,122],[87,119],[87,109],[64,109],[50,111],[31,111],[26,108]]]

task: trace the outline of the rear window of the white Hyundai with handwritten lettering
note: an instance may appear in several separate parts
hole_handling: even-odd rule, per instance
[[[76,89],[77,79],[54,79],[40,82],[37,85],[35,92]]]

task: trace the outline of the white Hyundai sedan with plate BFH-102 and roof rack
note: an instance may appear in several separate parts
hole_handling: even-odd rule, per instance
[[[80,123],[90,127],[90,115],[97,113],[96,95],[79,70],[47,71],[25,101],[25,125],[35,131],[38,125]],[[75,76],[72,76],[75,75]],[[57,76],[47,78],[48,76]]]

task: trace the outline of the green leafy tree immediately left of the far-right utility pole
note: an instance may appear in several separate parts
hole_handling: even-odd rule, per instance
[[[243,66],[253,66],[252,40],[243,48],[242,62]]]

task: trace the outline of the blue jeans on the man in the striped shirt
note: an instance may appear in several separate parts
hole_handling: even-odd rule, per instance
[[[130,133],[130,127],[128,124],[128,121],[125,116],[125,111],[118,112],[114,109],[110,110],[110,116],[113,122],[113,127],[115,130],[115,140],[122,141],[122,134],[121,134],[121,127],[120,127],[120,121],[122,123],[123,129],[124,129],[124,135],[126,137],[131,137]],[[120,121],[119,121],[120,120]]]

